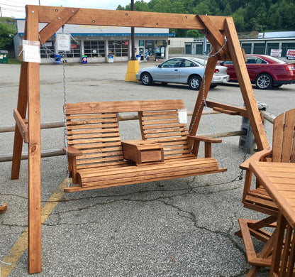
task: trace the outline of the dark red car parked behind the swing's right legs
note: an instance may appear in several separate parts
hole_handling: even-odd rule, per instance
[[[272,56],[267,55],[246,55],[246,67],[252,84],[258,89],[270,89],[281,87],[286,84],[295,83],[295,64],[285,63]],[[233,62],[223,61],[218,65],[228,67],[230,82],[238,82]]]

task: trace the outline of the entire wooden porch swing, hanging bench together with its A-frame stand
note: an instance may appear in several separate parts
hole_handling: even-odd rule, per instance
[[[39,23],[47,23],[47,25],[39,31]],[[243,94],[245,102],[245,108],[231,107],[225,104],[219,104],[214,102],[208,102],[208,107],[218,110],[219,112],[225,112],[226,114],[238,114],[247,116],[250,119],[252,131],[255,136],[257,148],[262,150],[269,147],[265,129],[262,124],[260,112],[257,107],[255,96],[252,90],[249,76],[245,67],[245,55],[240,48],[238,36],[235,31],[233,18],[223,16],[196,16],[189,14],[175,14],[175,13],[149,13],[149,12],[138,12],[138,11],[107,11],[107,10],[95,10],[95,9],[78,9],[78,8],[66,8],[66,7],[54,7],[54,6],[26,6],[26,28],[24,39],[30,41],[38,41],[41,45],[45,43],[51,36],[53,36],[64,24],[83,24],[90,26],[127,26],[127,27],[151,27],[151,28],[184,28],[184,29],[199,29],[206,32],[206,37],[211,43],[214,51],[218,53],[208,58],[208,63],[205,71],[205,80],[203,80],[200,88],[199,95],[196,99],[196,105],[192,118],[194,121],[191,122],[189,127],[190,134],[187,133],[184,126],[177,124],[177,138],[184,138],[180,152],[182,158],[172,158],[173,155],[167,153],[167,148],[173,148],[173,146],[167,146],[165,140],[159,136],[159,132],[150,134],[150,127],[146,123],[148,117],[162,116],[167,119],[169,116],[177,114],[177,109],[183,108],[183,103],[178,100],[164,100],[157,102],[157,109],[150,109],[150,102],[111,102],[111,103],[87,103],[87,104],[67,104],[67,120],[68,129],[74,126],[75,116],[88,116],[93,114],[94,109],[98,114],[96,117],[99,120],[104,119],[101,114],[107,113],[107,119],[115,121],[113,124],[116,126],[116,114],[118,112],[138,112],[140,115],[140,126],[142,131],[144,143],[129,143],[121,144],[123,147],[127,147],[127,153],[132,154],[132,150],[136,148],[138,151],[146,151],[152,148],[152,161],[150,155],[141,156],[141,160],[134,160],[131,157],[133,163],[138,163],[138,166],[133,165],[131,173],[128,172],[128,161],[121,158],[121,146],[117,149],[118,157],[116,157],[116,165],[111,165],[114,173],[122,178],[119,183],[134,183],[134,178],[138,176],[138,171],[142,173],[142,176],[147,174],[148,169],[156,170],[155,178],[162,180],[165,178],[171,178],[172,172],[169,168],[178,168],[177,171],[179,176],[185,175],[196,175],[201,164],[200,174],[220,172],[223,168],[218,168],[215,159],[211,158],[211,143],[216,142],[212,139],[195,138],[196,131],[199,126],[201,119],[201,112],[204,107],[204,99],[206,99],[208,90],[213,77],[213,72],[216,67],[218,60],[232,60],[235,65],[235,71],[237,72],[238,80],[240,83],[240,90]],[[225,39],[226,36],[226,39]],[[226,45],[223,44],[227,40]],[[104,104],[103,104],[104,103]],[[126,104],[126,106],[124,106]],[[27,114],[28,107],[28,116]],[[123,108],[124,107],[124,108]],[[90,111],[90,112],[89,112]],[[165,114],[165,116],[163,116]],[[82,119],[81,117],[79,119]],[[27,119],[26,119],[27,117]],[[40,76],[39,76],[39,64],[32,62],[23,62],[21,64],[21,77],[18,90],[18,105],[15,112],[16,119],[16,131],[13,146],[13,163],[11,169],[11,178],[17,179],[19,175],[21,165],[21,152],[23,148],[23,139],[28,143],[28,271],[30,273],[37,273],[42,270],[41,268],[41,169],[40,169]],[[96,120],[90,119],[90,120]],[[163,119],[163,120],[164,120]],[[175,118],[174,118],[175,119]],[[77,120],[77,119],[76,119]],[[82,119],[83,120],[83,119]],[[106,119],[104,119],[106,120]],[[162,120],[162,119],[161,119]],[[103,122],[105,123],[105,122]],[[106,126],[104,126],[106,127]],[[171,126],[169,126],[171,128]],[[179,131],[180,130],[180,131]],[[179,132],[184,132],[180,134]],[[104,137],[104,129],[99,132],[101,138]],[[71,155],[72,163],[72,177],[74,182],[79,183],[80,188],[94,188],[97,185],[96,180],[102,178],[106,180],[108,177],[99,175],[101,173],[93,173],[89,169],[89,165],[86,169],[83,168],[81,159],[81,150],[74,150],[71,146],[75,145],[74,137],[80,134],[69,134],[69,155]],[[72,137],[70,137],[72,136]],[[113,137],[117,136],[118,141],[120,140],[116,133],[116,128],[113,129]],[[152,136],[152,140],[149,136]],[[86,138],[89,139],[89,138]],[[99,138],[98,138],[99,139]],[[171,140],[171,139],[169,139]],[[188,140],[194,141],[194,146],[191,148],[191,143]],[[195,158],[194,153],[198,152],[199,141],[205,141],[206,153],[205,158]],[[217,140],[218,141],[218,140]],[[147,144],[146,144],[147,143]],[[164,146],[162,145],[164,143]],[[179,142],[177,142],[179,143]],[[135,144],[135,145],[134,145]],[[113,147],[113,146],[111,146]],[[114,146],[118,147],[118,146]],[[166,150],[165,150],[166,148]],[[126,148],[125,148],[126,149]],[[128,150],[129,149],[129,150]],[[126,150],[125,150],[126,151]],[[146,153],[145,153],[146,154]],[[105,159],[109,153],[103,153]],[[140,165],[143,160],[147,157],[147,164]],[[155,158],[156,157],[156,158]],[[185,157],[185,158],[184,158]],[[155,161],[156,159],[156,161]],[[196,162],[198,161],[198,162]],[[199,165],[197,165],[199,163]],[[208,164],[211,165],[208,165]],[[78,166],[77,173],[74,173],[75,164]],[[123,172],[121,172],[121,165],[123,164]],[[206,165],[205,165],[206,164]],[[81,168],[79,168],[81,167]],[[130,168],[129,168],[130,169]],[[80,170],[80,171],[79,171]],[[82,171],[81,171],[82,170]],[[110,170],[110,171],[111,171]],[[117,174],[118,173],[118,174]],[[94,176],[95,175],[95,176]],[[99,175],[99,177],[97,176]],[[173,176],[174,177],[174,176]],[[114,177],[115,178],[115,177]],[[128,179],[129,178],[129,179]],[[145,179],[145,177],[143,177]],[[125,181],[124,181],[125,180]],[[145,179],[147,180],[147,179]],[[94,183],[91,183],[93,182]],[[112,180],[113,182],[113,180]],[[108,184],[106,184],[108,185]],[[84,187],[84,188],[83,188]],[[75,187],[74,187],[75,188]],[[72,189],[74,190],[74,189]]]

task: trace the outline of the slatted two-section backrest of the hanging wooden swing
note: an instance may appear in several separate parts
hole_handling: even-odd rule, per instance
[[[77,157],[77,170],[128,163],[123,159],[119,112],[140,114],[143,139],[160,141],[166,157],[193,155],[187,124],[179,124],[177,109],[184,109],[182,100],[67,103],[68,145],[82,151],[82,156]]]

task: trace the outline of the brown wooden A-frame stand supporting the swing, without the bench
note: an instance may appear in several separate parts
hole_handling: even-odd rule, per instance
[[[39,23],[48,23],[39,31]],[[64,24],[92,26],[134,26],[150,28],[199,29],[217,52],[208,58],[206,82],[202,82],[191,122],[191,134],[196,134],[203,109],[203,88],[206,98],[213,72],[218,60],[233,60],[243,94],[245,109],[208,102],[228,114],[240,114],[250,119],[252,131],[259,150],[269,147],[260,112],[245,67],[245,55],[240,48],[233,18],[223,16],[196,16],[177,13],[148,13],[139,11],[108,11],[77,9],[54,6],[26,6],[24,39],[39,41],[42,45]],[[28,112],[27,112],[28,107]],[[26,120],[28,114],[28,121]],[[196,116],[195,116],[196,115]],[[37,273],[41,267],[41,168],[40,168],[40,75],[38,63],[21,64],[18,104],[15,112],[16,131],[13,146],[11,178],[17,179],[21,165],[23,140],[28,143],[28,271]],[[193,126],[192,126],[193,125]],[[20,131],[22,130],[22,131]]]

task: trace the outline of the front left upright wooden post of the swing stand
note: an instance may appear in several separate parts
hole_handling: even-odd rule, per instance
[[[38,9],[26,6],[27,38],[39,40]],[[28,63],[28,271],[42,271],[41,263],[41,146],[40,72]]]

